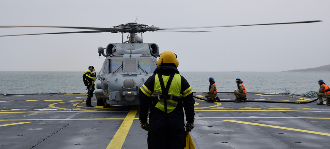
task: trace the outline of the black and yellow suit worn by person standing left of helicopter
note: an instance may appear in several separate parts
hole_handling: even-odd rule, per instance
[[[86,90],[87,90],[86,105],[91,105],[90,102],[94,95],[94,89],[95,89],[94,88],[95,84],[92,84],[92,83],[95,80],[96,71],[91,72],[89,69],[87,69],[84,73],[87,76],[86,78],[87,78],[87,82],[88,82],[88,85],[86,86]]]

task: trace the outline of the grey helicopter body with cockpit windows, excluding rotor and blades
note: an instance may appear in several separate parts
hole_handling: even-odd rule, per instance
[[[158,55],[158,45],[155,43],[120,43],[116,45],[111,43],[107,47],[112,47],[112,50],[106,51],[107,55],[111,55],[105,59],[98,76],[98,79],[101,80],[96,84],[97,89],[95,90],[98,106],[101,106],[101,102],[122,106],[138,105],[139,88],[153,75],[153,71],[157,67],[156,56],[152,56],[151,53],[154,52],[154,55]],[[103,53],[103,55],[106,54]]]

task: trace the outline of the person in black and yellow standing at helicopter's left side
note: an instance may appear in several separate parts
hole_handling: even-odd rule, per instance
[[[89,66],[88,69],[84,72],[84,75],[82,75],[82,79],[84,81],[88,94],[86,98],[86,107],[90,107],[90,108],[94,107],[90,104],[90,102],[94,95],[95,84],[93,84],[93,81],[95,80],[95,77],[96,77],[96,71],[93,66]]]

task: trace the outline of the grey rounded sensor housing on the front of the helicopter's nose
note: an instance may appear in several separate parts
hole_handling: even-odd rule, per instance
[[[136,83],[133,78],[125,78],[123,80],[123,96],[127,101],[133,101],[137,95]]]

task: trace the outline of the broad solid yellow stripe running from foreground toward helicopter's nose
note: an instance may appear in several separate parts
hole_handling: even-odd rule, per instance
[[[111,139],[107,149],[121,149],[124,144],[125,138],[128,134],[128,130],[131,127],[134,117],[137,113],[137,110],[130,110],[124,119],[123,123],[121,123],[119,129],[117,130],[114,137]]]

